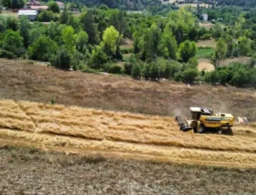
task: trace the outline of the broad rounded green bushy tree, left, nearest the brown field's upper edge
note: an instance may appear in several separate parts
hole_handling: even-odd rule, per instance
[[[57,44],[50,37],[42,35],[29,46],[28,55],[32,60],[49,61],[51,55],[56,51]]]

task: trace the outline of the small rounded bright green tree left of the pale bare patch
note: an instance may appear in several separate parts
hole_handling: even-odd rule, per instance
[[[195,57],[196,51],[197,47],[195,42],[190,42],[187,40],[180,44],[177,53],[180,60],[183,60],[183,62],[188,62],[189,58]]]

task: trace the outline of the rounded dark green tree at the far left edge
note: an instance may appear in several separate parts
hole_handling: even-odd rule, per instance
[[[2,49],[19,57],[24,52],[23,37],[20,36],[19,32],[7,30],[3,33]]]

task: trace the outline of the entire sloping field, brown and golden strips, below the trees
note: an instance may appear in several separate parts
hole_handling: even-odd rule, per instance
[[[255,121],[253,89],[0,66],[1,194],[256,192],[254,123],[199,135],[174,120],[209,106]]]

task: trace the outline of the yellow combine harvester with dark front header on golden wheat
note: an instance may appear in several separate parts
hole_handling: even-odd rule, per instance
[[[224,129],[230,130],[235,118],[229,113],[214,113],[212,109],[202,107],[190,107],[192,120],[177,116],[176,120],[181,130],[194,129],[195,133],[204,133],[207,129],[214,129],[222,134]]]

